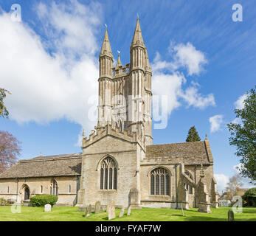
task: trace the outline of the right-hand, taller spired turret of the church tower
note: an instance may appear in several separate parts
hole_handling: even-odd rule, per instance
[[[130,80],[131,80],[131,130],[142,128],[146,145],[152,145],[151,119],[151,67],[145,47],[139,18],[136,21],[134,37],[130,46]]]

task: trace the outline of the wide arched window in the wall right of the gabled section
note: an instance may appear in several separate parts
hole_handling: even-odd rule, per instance
[[[170,174],[163,168],[151,171],[151,195],[170,195]]]

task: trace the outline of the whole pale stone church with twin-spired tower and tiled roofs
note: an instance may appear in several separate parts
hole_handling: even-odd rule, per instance
[[[132,208],[218,207],[213,159],[206,138],[152,145],[151,77],[139,18],[130,63],[114,59],[108,31],[100,51],[98,121],[82,153],[20,160],[0,174],[0,198],[25,202],[58,195],[58,205],[100,201]]]

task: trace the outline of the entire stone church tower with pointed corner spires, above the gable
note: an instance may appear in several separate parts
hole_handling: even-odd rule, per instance
[[[128,133],[138,133],[145,145],[152,145],[151,66],[139,18],[130,46],[130,63],[122,66],[120,55],[113,66],[113,55],[105,30],[100,51],[99,104],[97,128],[111,125]]]

